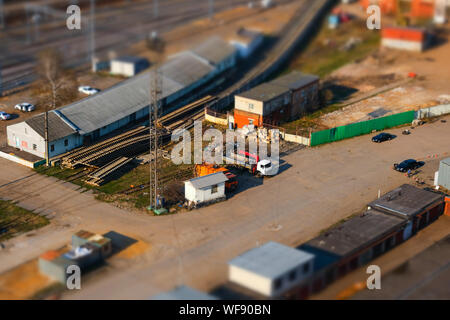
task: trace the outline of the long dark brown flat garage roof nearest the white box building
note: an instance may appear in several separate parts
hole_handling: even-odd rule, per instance
[[[405,219],[368,210],[308,241],[306,245],[344,257],[370,246],[406,223]]]

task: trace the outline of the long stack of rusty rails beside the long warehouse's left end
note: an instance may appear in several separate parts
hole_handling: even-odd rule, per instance
[[[132,156],[149,148],[148,127],[138,127],[88,147],[81,147],[62,155],[61,165],[70,169],[83,165],[99,168],[121,156]]]

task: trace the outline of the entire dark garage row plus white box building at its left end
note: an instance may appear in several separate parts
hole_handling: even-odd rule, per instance
[[[450,215],[450,197],[446,202],[446,214]],[[236,257],[229,262],[229,284],[222,291],[247,299],[305,299],[406,241],[443,211],[443,195],[402,185],[370,203],[364,213],[323,231],[296,249],[268,243]],[[292,283],[288,281],[288,270],[295,269],[295,261],[300,259],[311,263],[311,273],[279,292],[271,291],[277,277],[283,278],[281,283]]]

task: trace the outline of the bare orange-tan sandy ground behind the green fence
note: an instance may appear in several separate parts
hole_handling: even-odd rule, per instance
[[[363,14],[357,4],[343,8],[359,16]],[[386,21],[384,23],[389,24]],[[370,95],[382,85],[396,83],[398,85],[391,90],[326,114],[321,117],[320,123],[334,127],[371,119],[372,112],[389,115],[450,103],[449,30],[448,24],[434,46],[423,53],[380,48],[362,61],[350,63],[334,71],[329,78],[336,84],[357,90],[349,100]],[[405,83],[404,80],[408,79],[410,72],[416,73],[417,78]]]

